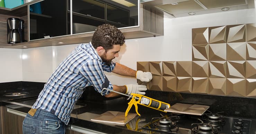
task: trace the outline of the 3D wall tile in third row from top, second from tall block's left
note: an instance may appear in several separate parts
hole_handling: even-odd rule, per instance
[[[226,61],[210,61],[209,62],[209,77],[210,78],[226,78],[227,74]]]

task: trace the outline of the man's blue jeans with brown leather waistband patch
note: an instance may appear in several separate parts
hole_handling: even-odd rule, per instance
[[[23,134],[65,134],[66,127],[56,115],[39,108],[34,116],[25,117]]]

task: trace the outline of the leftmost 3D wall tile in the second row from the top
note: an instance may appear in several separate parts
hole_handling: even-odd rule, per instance
[[[208,44],[192,46],[192,61],[208,61]]]

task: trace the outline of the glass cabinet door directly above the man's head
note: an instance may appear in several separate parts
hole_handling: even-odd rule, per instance
[[[102,24],[138,26],[138,0],[126,1],[131,5],[120,0],[72,0],[72,34],[94,32]]]

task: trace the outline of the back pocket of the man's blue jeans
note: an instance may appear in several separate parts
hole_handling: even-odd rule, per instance
[[[43,131],[54,131],[60,127],[60,120],[44,119],[42,121]]]

